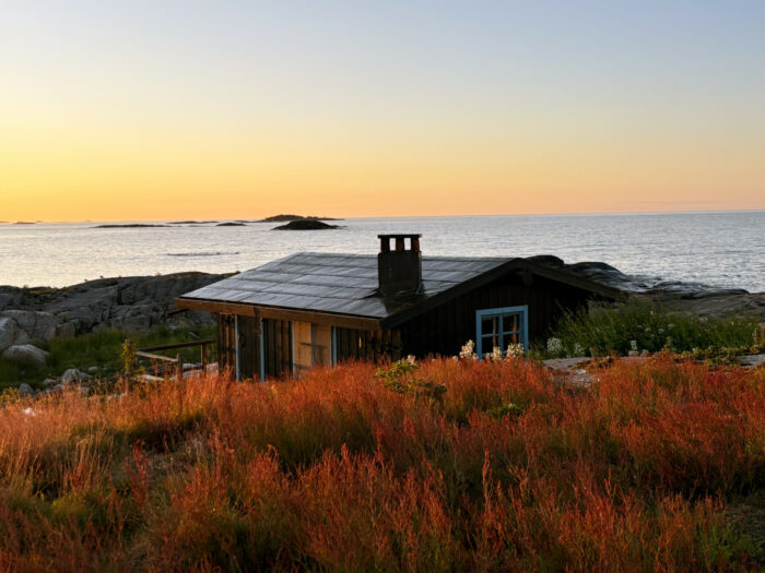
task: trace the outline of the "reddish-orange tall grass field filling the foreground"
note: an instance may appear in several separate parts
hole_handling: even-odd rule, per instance
[[[662,354],[587,390],[522,358],[419,366],[7,404],[0,569],[763,564],[728,505],[765,488],[764,369]]]

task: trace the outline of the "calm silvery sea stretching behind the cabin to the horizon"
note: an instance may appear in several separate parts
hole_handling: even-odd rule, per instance
[[[604,261],[627,274],[765,290],[765,212],[356,218],[271,231],[95,223],[0,225],[0,284],[63,286],[99,276],[244,271],[297,251],[376,253],[379,232],[421,232],[425,254]]]

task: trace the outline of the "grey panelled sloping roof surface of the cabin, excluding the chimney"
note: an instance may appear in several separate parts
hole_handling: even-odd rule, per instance
[[[183,298],[384,319],[510,260],[423,256],[421,291],[390,300],[377,293],[377,255],[296,253],[188,293]]]

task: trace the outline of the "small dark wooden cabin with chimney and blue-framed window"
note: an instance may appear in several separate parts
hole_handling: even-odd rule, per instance
[[[545,341],[567,311],[621,291],[522,258],[423,256],[420,235],[374,254],[301,252],[176,298],[217,315],[219,367],[238,380],[343,360],[455,356]],[[392,242],[392,247],[391,247]]]

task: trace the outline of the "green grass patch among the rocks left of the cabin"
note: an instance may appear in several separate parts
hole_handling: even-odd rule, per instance
[[[134,339],[139,347],[150,347],[188,342],[193,339],[192,334],[199,338],[214,338],[215,329],[205,326],[196,330],[170,330],[167,326],[160,326],[142,334],[104,331],[72,338],[40,342],[38,346],[50,353],[44,368],[0,358],[0,390],[15,387],[21,383],[39,387],[44,379],[60,377],[68,368],[86,369],[97,366],[101,369],[101,375],[114,374],[122,366],[120,354],[126,338]],[[199,348],[186,349],[181,354],[186,360],[199,361]]]

